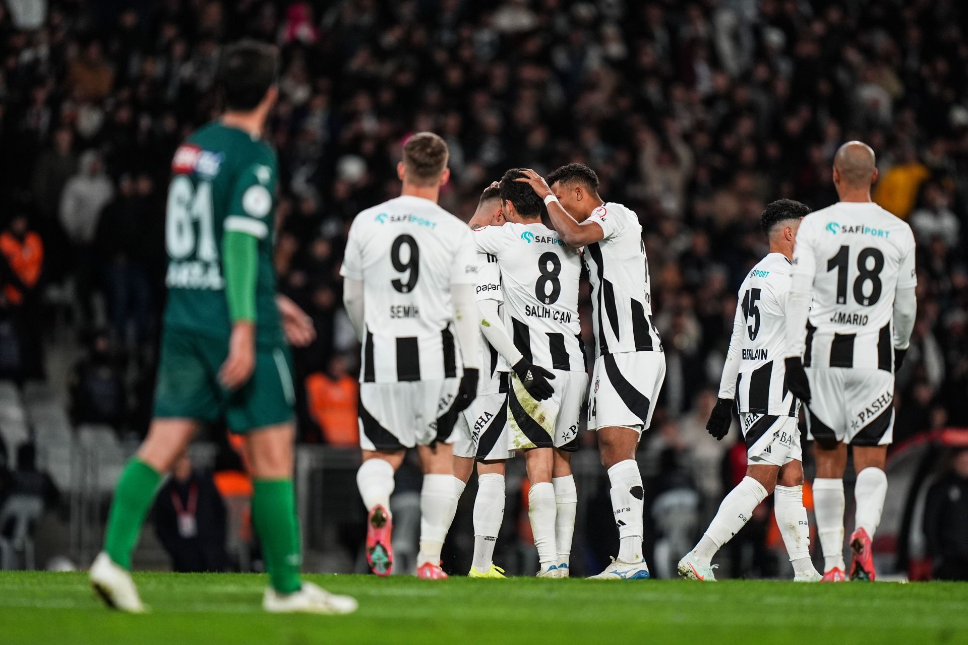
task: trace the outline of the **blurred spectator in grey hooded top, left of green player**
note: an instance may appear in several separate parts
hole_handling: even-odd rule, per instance
[[[98,257],[94,238],[101,211],[114,196],[114,186],[104,171],[101,155],[88,150],[80,156],[77,174],[64,187],[60,220],[71,244],[75,288],[83,321],[94,320],[95,279]]]

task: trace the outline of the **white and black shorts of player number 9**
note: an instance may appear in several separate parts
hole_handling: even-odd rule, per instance
[[[360,383],[360,448],[398,451],[448,441],[459,378]]]

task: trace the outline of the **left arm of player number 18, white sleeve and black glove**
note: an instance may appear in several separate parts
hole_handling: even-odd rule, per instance
[[[806,230],[804,230],[806,229]],[[810,402],[810,383],[803,370],[806,348],[806,321],[813,299],[813,279],[817,271],[816,252],[808,220],[801,224],[793,249],[793,271],[786,297],[786,366],[787,387],[804,403]]]

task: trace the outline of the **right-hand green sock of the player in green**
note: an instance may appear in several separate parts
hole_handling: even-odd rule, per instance
[[[280,594],[299,591],[299,524],[292,480],[256,480],[252,521],[262,542],[262,557],[272,588]]]

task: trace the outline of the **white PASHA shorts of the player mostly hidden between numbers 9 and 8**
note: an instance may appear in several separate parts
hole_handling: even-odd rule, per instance
[[[508,459],[507,391],[508,374],[503,373],[499,392],[477,395],[470,407],[457,415],[454,425],[454,455],[480,461]]]

